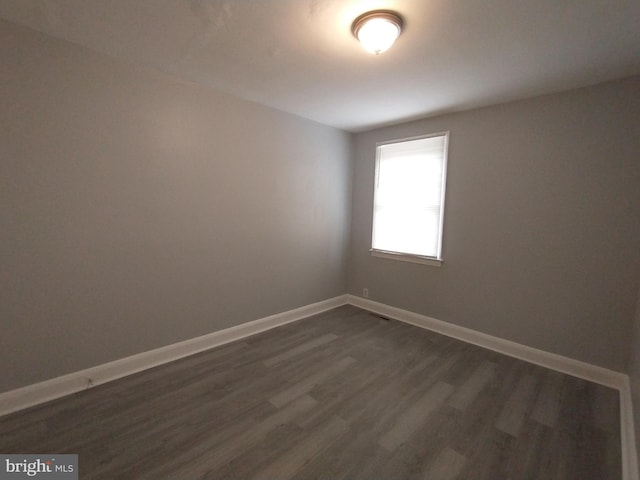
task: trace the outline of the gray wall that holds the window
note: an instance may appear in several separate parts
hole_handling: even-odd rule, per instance
[[[640,272],[640,77],[355,136],[348,288],[623,371]],[[449,130],[441,268],[371,257],[377,141]]]

